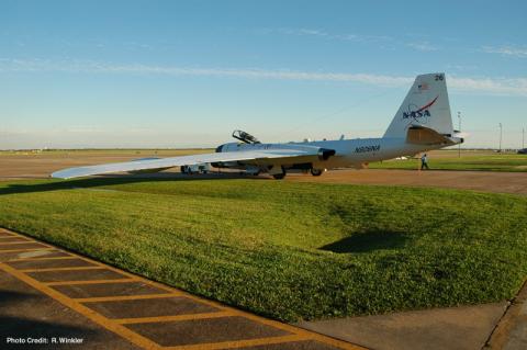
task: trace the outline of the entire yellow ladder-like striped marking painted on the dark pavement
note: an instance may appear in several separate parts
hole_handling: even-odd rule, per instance
[[[15,236],[15,235],[13,235]],[[21,235],[16,235],[19,237],[24,237]],[[29,240],[29,242],[40,244],[38,240]],[[45,246],[45,245],[43,245]],[[235,349],[235,348],[243,348],[243,347],[254,347],[254,346],[265,346],[265,345],[276,345],[276,343],[285,343],[285,342],[294,342],[294,341],[304,341],[304,340],[312,340],[317,341],[321,343],[325,343],[328,346],[333,346],[339,349],[350,349],[350,350],[360,350],[366,349],[359,346],[355,346],[345,341],[340,341],[337,339],[333,339],[323,335],[318,335],[312,331],[304,330],[302,328],[298,328],[294,326],[290,326],[287,324],[282,324],[279,321],[266,319],[260,316],[256,316],[243,311],[238,311],[235,308],[231,308],[228,306],[222,305],[217,302],[208,301],[204,298],[200,298],[192,294],[186,293],[183,291],[172,289],[170,286],[164,285],[161,283],[150,281],[133,273],[113,268],[111,266],[105,266],[99,261],[91,260],[89,258],[78,256],[72,252],[68,252],[61,249],[56,249],[55,247],[46,246],[46,248],[26,248],[26,249],[12,249],[12,250],[0,250],[0,252],[10,252],[10,251],[37,251],[37,250],[56,250],[60,252],[65,252],[70,255],[71,257],[55,257],[55,258],[16,258],[10,259],[11,261],[25,261],[25,260],[56,260],[57,258],[63,258],[63,260],[67,259],[80,259],[87,262],[92,263],[93,266],[90,267],[71,267],[71,268],[46,268],[46,269],[15,269],[8,263],[0,262],[0,270],[15,276],[16,279],[25,282],[26,284],[33,286],[34,289],[38,290],[40,292],[48,295],[49,297],[58,301],[59,303],[66,305],[67,307],[74,309],[75,312],[88,317],[96,324],[104,327],[108,330],[115,332],[116,335],[127,339],[128,341],[142,347],[144,349],[176,349],[176,350],[213,350],[213,349]],[[67,258],[67,259],[65,259]],[[58,259],[60,260],[60,259]],[[80,280],[80,281],[57,281],[57,282],[41,282],[31,275],[26,274],[30,272],[42,272],[42,271],[83,271],[83,270],[110,270],[113,272],[123,275],[123,279],[117,280]],[[146,294],[146,295],[123,295],[123,296],[102,296],[102,297],[81,297],[81,298],[74,298],[69,297],[57,290],[53,289],[55,285],[75,285],[75,284],[98,284],[98,283],[124,283],[124,282],[142,282],[145,285],[150,285],[157,287],[161,291],[166,291],[167,293],[157,293],[157,294]],[[180,296],[188,300],[195,302],[197,304],[201,305],[209,305],[217,308],[217,312],[214,313],[201,313],[201,314],[182,314],[182,315],[167,315],[167,316],[156,316],[156,317],[137,317],[137,318],[115,318],[111,319],[96,311],[92,311],[88,307],[89,303],[98,303],[98,302],[113,302],[113,301],[133,301],[133,300],[147,300],[147,298],[167,298],[167,297],[175,297]],[[210,319],[210,318],[218,318],[218,317],[243,317],[245,319],[251,320],[259,325],[270,326],[274,329],[284,330],[290,332],[291,335],[288,336],[276,336],[276,337],[265,337],[265,338],[256,338],[256,339],[247,339],[247,340],[235,340],[235,341],[221,341],[221,342],[204,342],[204,343],[195,343],[195,345],[186,345],[186,346],[176,346],[176,347],[162,347],[155,342],[154,340],[139,335],[138,332],[127,328],[125,325],[138,325],[138,324],[152,324],[152,323],[159,323],[162,325],[164,323],[170,321],[184,321],[184,320],[193,320],[193,319]]]

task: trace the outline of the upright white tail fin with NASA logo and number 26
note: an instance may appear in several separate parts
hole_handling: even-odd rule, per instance
[[[408,131],[428,128],[455,136],[445,74],[417,76],[384,137],[407,137]]]

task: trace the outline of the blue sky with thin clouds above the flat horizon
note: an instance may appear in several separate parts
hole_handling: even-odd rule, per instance
[[[445,71],[467,146],[519,147],[525,1],[0,0],[0,148],[377,137]],[[455,117],[457,125],[457,117]]]

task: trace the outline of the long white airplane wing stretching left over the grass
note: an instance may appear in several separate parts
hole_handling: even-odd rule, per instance
[[[69,168],[52,173],[52,178],[71,179],[80,177],[89,177],[94,174],[123,172],[123,171],[139,171],[139,170],[156,170],[168,169],[178,166],[192,166],[203,162],[226,162],[226,161],[249,161],[255,162],[265,160],[279,160],[281,158],[294,157],[316,157],[318,148],[313,149],[265,149],[265,150],[245,150],[245,151],[228,151],[215,154],[201,154],[182,157],[170,157],[160,159],[145,159],[125,162],[112,162],[99,166],[88,166],[79,168]]]

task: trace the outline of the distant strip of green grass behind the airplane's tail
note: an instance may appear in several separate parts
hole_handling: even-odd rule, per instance
[[[527,155],[516,154],[474,154],[463,151],[458,158],[455,150],[437,153],[441,157],[435,158],[434,153],[428,159],[430,169],[435,170],[485,170],[485,171],[527,171]],[[445,156],[447,155],[447,156]],[[421,166],[418,158],[382,162],[372,162],[371,169],[412,169]]]

